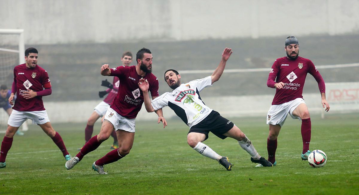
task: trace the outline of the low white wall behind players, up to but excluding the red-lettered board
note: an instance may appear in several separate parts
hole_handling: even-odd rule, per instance
[[[321,112],[321,98],[319,93],[305,94],[304,98],[311,113]],[[222,116],[243,117],[243,116],[262,116],[266,117],[271,105],[273,95],[265,96],[228,96],[228,97],[202,97],[202,100],[210,108],[218,111]],[[99,101],[77,101],[77,102],[44,102],[47,114],[52,123],[57,122],[87,122],[88,117],[93,112],[93,108]],[[3,111],[1,111],[3,112]],[[1,124],[6,124],[7,115],[1,113],[3,117]],[[165,118],[177,117],[169,107],[163,108]],[[146,112],[145,107],[141,109],[136,120],[157,120],[156,113]]]

